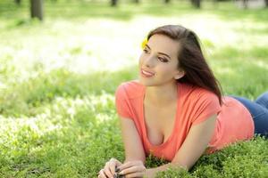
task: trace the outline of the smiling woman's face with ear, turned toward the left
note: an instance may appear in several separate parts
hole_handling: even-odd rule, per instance
[[[143,85],[165,85],[184,76],[178,69],[180,43],[168,36],[151,36],[139,57],[139,82]]]

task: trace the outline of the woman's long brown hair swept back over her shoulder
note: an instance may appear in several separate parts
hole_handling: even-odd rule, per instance
[[[178,79],[178,82],[205,88],[215,93],[222,104],[222,87],[205,61],[195,32],[180,25],[165,25],[150,31],[147,40],[155,34],[168,36],[180,42],[178,68],[185,71],[185,76]]]

